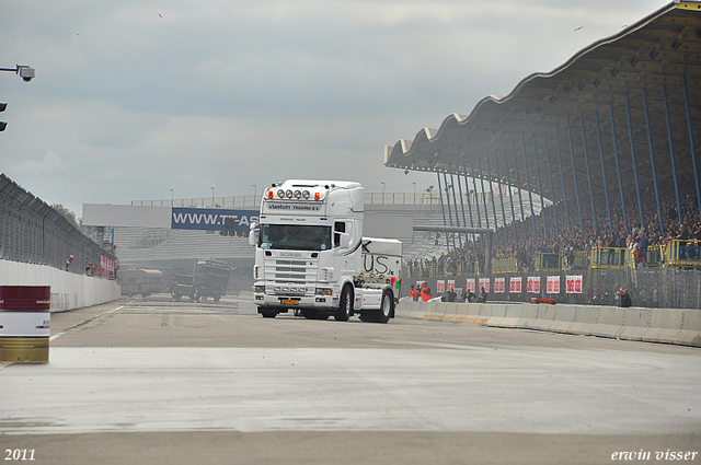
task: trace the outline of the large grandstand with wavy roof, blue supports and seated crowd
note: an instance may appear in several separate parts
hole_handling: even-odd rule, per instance
[[[455,198],[455,178],[509,193],[510,205],[492,210],[494,276],[480,276],[487,269],[479,263],[480,240],[468,246],[447,241],[433,251],[439,257],[425,253],[412,263],[410,279],[435,286],[462,276],[456,282],[467,278],[474,286],[479,276],[489,287],[498,275],[493,299],[522,302],[541,291],[504,291],[503,284],[574,282],[576,275],[579,290],[552,288],[559,302],[612,304],[611,295],[628,287],[635,305],[699,307],[699,5],[668,3],[553,71],[526,77],[508,95],[489,95],[438,129],[387,146],[386,166],[423,172],[447,186],[438,189],[441,205]],[[538,195],[552,204],[537,211]],[[459,222],[466,209],[476,216],[453,200],[443,224]]]

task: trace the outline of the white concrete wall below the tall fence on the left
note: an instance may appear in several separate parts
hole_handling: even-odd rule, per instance
[[[115,281],[9,260],[0,260],[0,286],[50,286],[51,312],[97,305],[120,297]]]

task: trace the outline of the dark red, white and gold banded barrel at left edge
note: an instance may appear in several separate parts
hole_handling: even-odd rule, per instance
[[[47,363],[49,286],[0,287],[0,361]]]

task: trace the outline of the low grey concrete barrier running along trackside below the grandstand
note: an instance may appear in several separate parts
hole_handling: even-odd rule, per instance
[[[701,347],[701,310],[402,300],[398,317]]]

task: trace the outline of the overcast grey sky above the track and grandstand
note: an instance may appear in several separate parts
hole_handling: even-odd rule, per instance
[[[0,67],[36,78],[0,73],[0,172],[78,217],[286,178],[411,193],[435,175],[384,146],[667,3],[1,0]]]

